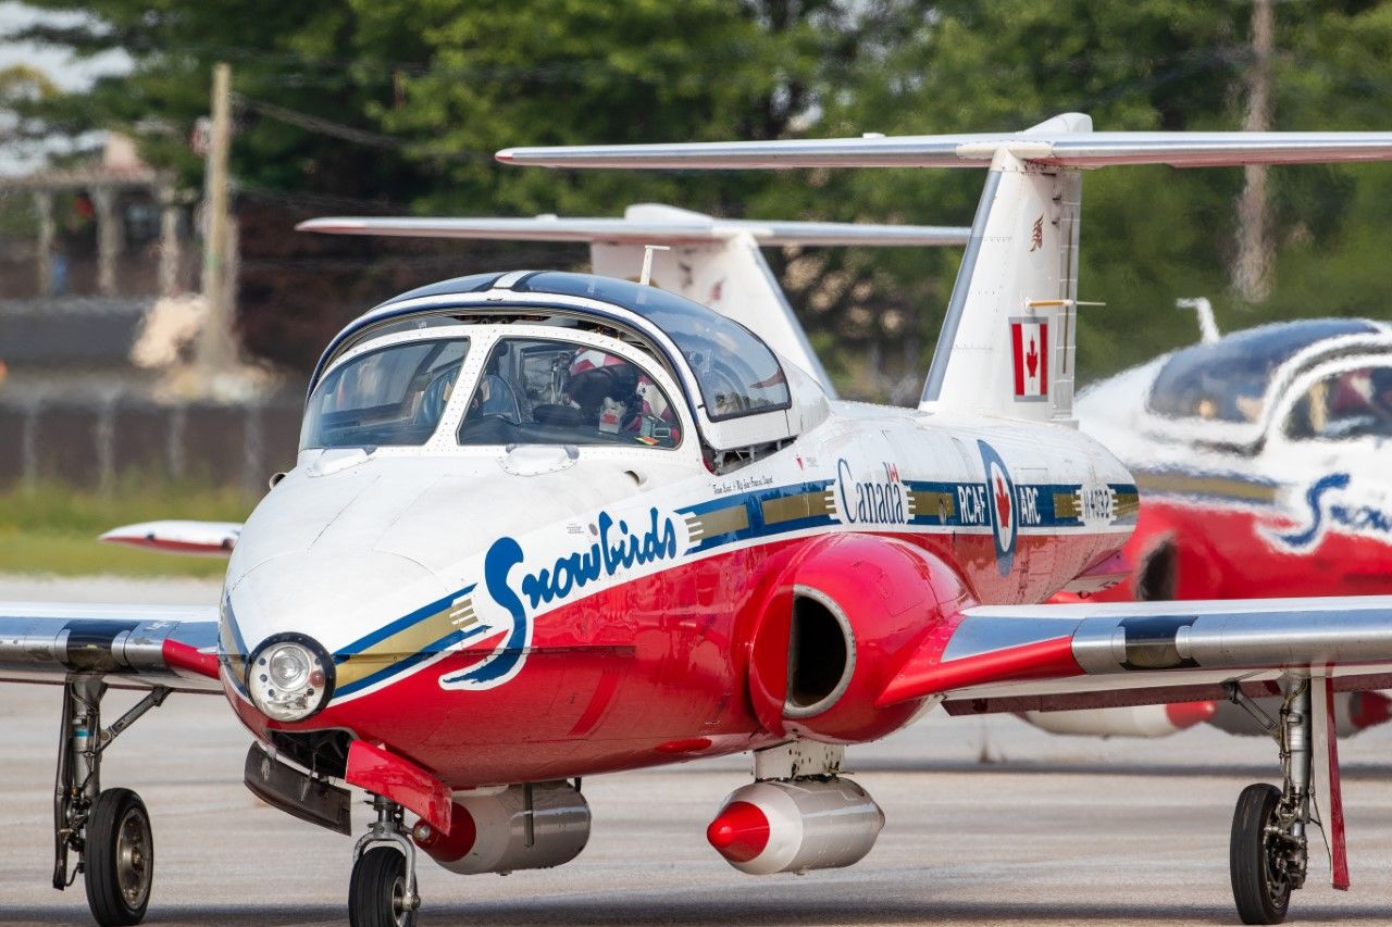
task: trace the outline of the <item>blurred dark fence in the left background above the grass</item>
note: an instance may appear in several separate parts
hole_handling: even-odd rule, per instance
[[[0,404],[0,487],[110,490],[127,475],[256,491],[295,464],[301,406],[135,401]]]

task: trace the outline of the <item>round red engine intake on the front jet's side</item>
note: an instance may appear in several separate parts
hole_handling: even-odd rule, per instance
[[[889,537],[818,539],[760,605],[749,692],[774,734],[859,743],[906,724],[920,702],[876,699],[924,637],[966,601],[937,558]]]

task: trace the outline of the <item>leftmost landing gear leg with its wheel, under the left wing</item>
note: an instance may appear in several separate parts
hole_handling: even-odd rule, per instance
[[[153,689],[102,728],[99,676],[75,676],[63,686],[63,728],[53,789],[53,887],[64,889],[84,876],[88,906],[99,924],[138,924],[155,878],[155,835],[141,796],[102,789],[102,753],[142,714],[164,703],[170,690]],[[77,862],[72,862],[77,855]]]

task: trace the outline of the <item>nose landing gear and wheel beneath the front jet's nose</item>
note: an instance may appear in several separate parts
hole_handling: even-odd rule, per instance
[[[380,795],[372,796],[372,807],[377,820],[354,848],[348,921],[352,927],[413,927],[420,895],[405,810]]]

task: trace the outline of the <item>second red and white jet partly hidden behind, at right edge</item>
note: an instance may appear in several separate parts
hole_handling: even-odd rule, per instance
[[[1207,301],[1204,301],[1207,303]],[[1094,601],[1392,593],[1392,327],[1307,319],[1165,354],[1083,390],[1083,431],[1136,475],[1144,497],[1123,553],[1132,569]],[[1065,597],[1070,597],[1065,594]],[[1070,597],[1076,601],[1076,597]],[[1165,736],[1186,721],[1265,734],[1231,703],[1029,713],[1058,734]],[[1342,693],[1339,736],[1392,717],[1375,692]]]

